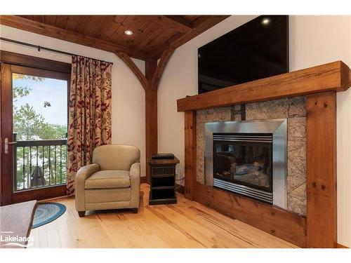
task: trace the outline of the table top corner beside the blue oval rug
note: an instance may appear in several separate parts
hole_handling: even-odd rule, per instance
[[[27,239],[29,237],[36,208],[37,200],[0,207],[0,248],[23,248],[20,245],[27,245],[27,240],[8,241],[7,238],[18,236]],[[7,243],[19,243],[20,245],[6,245]]]

